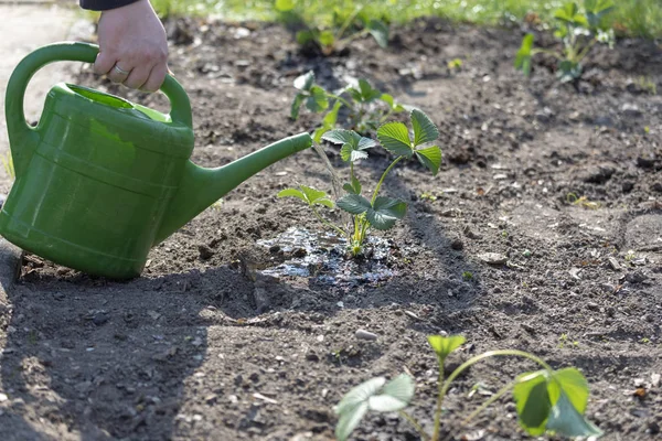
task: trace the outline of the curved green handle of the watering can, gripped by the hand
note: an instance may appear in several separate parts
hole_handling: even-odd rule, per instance
[[[98,53],[99,47],[95,44],[64,42],[38,49],[23,58],[13,72],[7,87],[6,106],[10,132],[12,126],[18,130],[20,130],[20,125],[28,126],[23,110],[23,99],[28,83],[36,71],[49,63],[58,61],[94,63]],[[172,76],[167,75],[161,92],[170,99],[170,117],[172,120],[192,127],[191,103],[182,86]],[[12,121],[9,119],[12,119]]]

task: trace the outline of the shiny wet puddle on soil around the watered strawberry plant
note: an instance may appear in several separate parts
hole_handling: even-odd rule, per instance
[[[261,270],[260,273],[265,276],[310,278],[333,286],[376,283],[396,276],[388,265],[389,258],[393,259],[393,245],[380,237],[369,237],[365,249],[370,258],[362,259],[345,257],[348,245],[343,237],[297,227],[257,244],[292,254],[289,260]]]

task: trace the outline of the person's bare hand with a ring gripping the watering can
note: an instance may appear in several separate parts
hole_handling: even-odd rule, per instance
[[[132,89],[158,90],[168,73],[168,39],[149,0],[102,12],[94,71]]]

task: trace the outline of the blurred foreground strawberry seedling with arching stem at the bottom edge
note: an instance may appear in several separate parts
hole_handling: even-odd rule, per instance
[[[452,381],[466,369],[487,358],[500,356],[517,356],[532,361],[542,367],[541,370],[520,374],[513,381],[493,394],[462,421],[467,426],[476,416],[512,390],[515,400],[520,426],[531,435],[540,437],[545,432],[564,437],[598,438],[602,432],[589,422],[584,413],[588,404],[588,383],[584,375],[574,367],[554,370],[547,363],[523,351],[490,351],[477,355],[462,363],[445,379],[446,358],[465,344],[461,335],[428,336],[428,342],[439,364],[439,381],[437,406],[434,417],[434,429],[429,433],[405,408],[414,398],[415,381],[407,374],[402,374],[386,383],[384,377],[370,379],[350,390],[335,406],[339,415],[335,437],[339,441],[349,439],[369,410],[375,412],[398,412],[407,420],[425,441],[439,441],[441,435],[442,405]]]

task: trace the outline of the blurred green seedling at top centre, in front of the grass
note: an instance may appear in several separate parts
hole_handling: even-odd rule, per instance
[[[324,2],[311,0],[276,0],[276,11],[281,20],[302,28],[297,32],[297,43],[314,44],[323,55],[331,55],[348,47],[351,42],[372,35],[382,47],[388,46],[388,26],[381,20],[370,18],[363,7],[334,8],[330,18]]]

